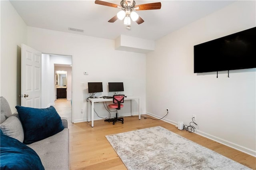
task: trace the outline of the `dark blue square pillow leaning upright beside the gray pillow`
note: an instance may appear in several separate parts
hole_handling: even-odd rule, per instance
[[[25,144],[48,138],[64,129],[53,106],[46,109],[16,106],[16,109],[24,128]]]

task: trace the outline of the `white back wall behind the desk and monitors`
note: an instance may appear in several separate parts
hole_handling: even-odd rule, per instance
[[[86,98],[89,97],[87,82],[94,81],[103,83],[104,92],[96,96],[113,95],[108,93],[108,82],[124,82],[124,94],[141,97],[141,113],[146,112],[145,54],[115,50],[114,40],[33,27],[28,27],[28,45],[43,53],[72,55],[74,122],[87,121]],[[84,71],[87,71],[89,75],[84,75]],[[81,83],[85,83],[85,86],[81,86]],[[125,105],[126,107],[120,110],[120,114],[129,115],[130,103],[126,101]],[[82,114],[81,109],[85,111]],[[102,117],[108,117],[109,113],[102,103],[98,103],[95,109]],[[134,112],[138,113],[138,109]],[[96,114],[94,117],[99,119]]]

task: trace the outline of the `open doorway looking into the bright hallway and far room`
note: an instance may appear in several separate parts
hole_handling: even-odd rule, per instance
[[[63,71],[58,72],[57,71]],[[57,87],[62,90],[62,97],[60,99],[66,100],[70,103],[71,112],[68,117],[70,122],[73,122],[72,116],[72,55],[56,55],[49,53],[42,53],[42,94],[45,106],[56,105]],[[64,93],[65,92],[65,93]],[[57,105],[56,105],[57,106]],[[62,108],[63,110],[64,108]],[[57,109],[56,109],[57,110]],[[57,110],[58,112],[58,110]],[[59,113],[59,112],[58,112]],[[60,111],[61,113],[61,111]],[[59,113],[59,114],[60,114]]]

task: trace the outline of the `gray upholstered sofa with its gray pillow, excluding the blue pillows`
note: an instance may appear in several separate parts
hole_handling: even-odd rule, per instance
[[[10,136],[23,141],[24,130],[17,120],[17,113],[12,114],[10,106],[4,97],[0,97],[1,129],[9,132]],[[9,119],[8,119],[9,118]],[[17,119],[18,118],[18,119]],[[45,138],[43,140],[28,144],[40,157],[46,170],[68,170],[69,169],[69,130],[67,119],[61,117],[64,130]],[[16,121],[16,122],[14,122]],[[9,136],[9,135],[8,135]]]

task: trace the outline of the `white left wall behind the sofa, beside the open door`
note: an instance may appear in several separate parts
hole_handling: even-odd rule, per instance
[[[27,42],[27,26],[9,1],[1,3],[0,96],[7,99],[12,112],[20,105],[21,43]]]

